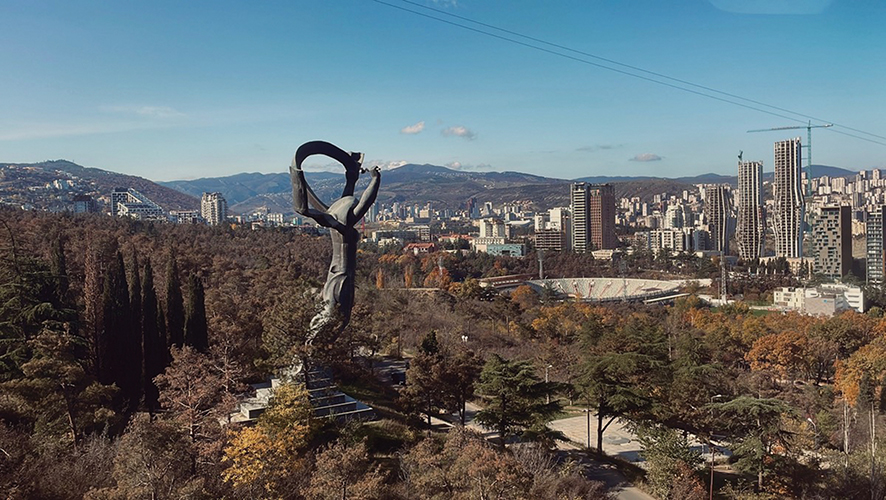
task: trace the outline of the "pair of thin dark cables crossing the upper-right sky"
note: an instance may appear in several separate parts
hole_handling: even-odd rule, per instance
[[[674,77],[671,77],[671,76],[668,76],[668,75],[665,75],[665,74],[662,74],[662,73],[657,73],[657,72],[655,72],[655,71],[650,71],[650,70],[646,70],[646,69],[643,69],[643,68],[640,68],[640,67],[637,67],[637,66],[632,66],[632,65],[630,65],[630,64],[621,63],[621,62],[619,62],[619,61],[615,61],[615,60],[613,60],[613,59],[608,59],[608,58],[605,58],[605,57],[602,57],[602,56],[598,56],[598,55],[591,54],[591,53],[588,53],[588,52],[584,52],[584,51],[581,51],[581,50],[573,49],[573,48],[571,48],[571,47],[567,47],[567,46],[565,46],[565,45],[560,45],[560,44],[557,44],[557,43],[548,42],[548,41],[546,41],[546,40],[542,40],[542,39],[540,39],[540,38],[532,37],[532,36],[529,36],[529,35],[524,35],[524,34],[522,34],[522,33],[516,32],[516,31],[508,30],[508,29],[505,29],[505,28],[500,28],[500,27],[498,27],[498,26],[494,26],[494,25],[492,25],[492,24],[484,23],[484,22],[481,22],[481,21],[476,21],[476,20],[470,19],[470,18],[468,18],[468,17],[464,17],[464,16],[460,16],[460,15],[457,15],[457,14],[453,14],[453,13],[451,13],[451,12],[446,12],[446,11],[444,11],[444,10],[437,9],[437,8],[434,8],[434,7],[431,7],[431,6],[422,5],[422,4],[417,3],[417,2],[414,2],[414,1],[412,1],[412,0],[400,0],[400,1],[403,2],[403,3],[405,3],[405,4],[409,4],[409,5],[412,5],[412,6],[414,6],[414,7],[417,7],[417,8],[425,9],[425,10],[428,10],[428,11],[431,11],[431,12],[434,12],[434,13],[437,13],[437,14],[445,15],[445,16],[448,16],[448,17],[451,17],[451,18],[454,18],[454,19],[459,19],[459,20],[461,20],[461,21],[466,21],[466,22],[469,22],[469,23],[471,23],[471,24],[474,24],[474,25],[477,25],[477,26],[481,26],[481,27],[483,27],[483,28],[487,28],[487,29],[495,30],[495,31],[498,31],[498,32],[500,32],[500,33],[505,33],[505,34],[507,34],[507,35],[511,35],[511,36],[518,37],[518,38],[522,38],[522,39],[524,39],[524,40],[529,40],[529,41],[532,41],[532,42],[534,42],[534,43],[543,44],[543,45],[546,45],[546,46],[548,46],[548,47],[556,48],[556,49],[558,49],[558,50],[563,50],[563,51],[571,52],[571,53],[573,53],[573,54],[578,54],[578,55],[581,55],[581,56],[583,56],[583,57],[589,57],[589,58],[592,58],[592,59],[596,59],[596,60],[598,60],[598,61],[603,61],[603,62],[606,62],[606,63],[608,63],[608,64],[613,64],[613,65],[616,65],[616,66],[620,66],[620,67],[622,67],[622,68],[630,69],[630,70],[632,70],[632,71],[638,71],[638,72],[645,73],[645,74],[647,74],[647,75],[652,75],[652,76],[655,76],[655,77],[658,77],[658,78],[664,78],[664,79],[666,79],[666,80],[670,80],[670,81],[672,81],[672,82],[677,82],[677,83],[682,84],[682,85],[688,85],[688,86],[691,86],[691,87],[694,87],[694,88],[697,88],[697,89],[702,89],[702,90],[704,90],[704,91],[706,91],[706,92],[713,92],[713,93],[716,93],[716,94],[719,94],[719,95],[722,95],[722,96],[729,97],[730,99],[726,99],[726,98],[723,98],[723,97],[717,97],[717,96],[715,96],[715,95],[711,95],[711,94],[708,94],[708,93],[705,93],[705,92],[700,92],[700,91],[692,90],[692,89],[690,89],[690,88],[681,87],[681,86],[679,86],[679,85],[674,85],[674,84],[671,84],[671,83],[663,82],[663,81],[661,81],[661,80],[657,80],[657,79],[655,79],[655,78],[650,78],[650,77],[646,77],[646,76],[643,76],[643,75],[638,75],[638,74],[636,74],[636,73],[632,73],[632,72],[630,72],[630,71],[624,71],[624,70],[620,70],[620,69],[618,69],[618,68],[613,68],[613,67],[611,67],[611,66],[607,66],[607,65],[604,65],[604,64],[595,63],[595,62],[593,62],[593,61],[588,61],[587,59],[582,59],[582,58],[579,58],[579,57],[571,56],[571,55],[569,55],[569,54],[564,54],[564,53],[562,53],[562,52],[558,52],[558,51],[556,51],[556,50],[550,50],[550,49],[546,49],[546,48],[544,48],[544,47],[539,47],[538,45],[533,45],[533,44],[530,44],[530,43],[522,42],[522,41],[520,41],[520,40],[515,40],[515,39],[513,39],[513,38],[509,38],[509,37],[507,37],[507,36],[498,35],[498,34],[496,34],[496,33],[490,33],[489,31],[485,31],[485,30],[482,30],[482,29],[478,29],[478,28],[474,28],[474,27],[471,27],[471,26],[467,26],[467,25],[464,25],[464,24],[461,24],[461,23],[458,23],[458,22],[450,21],[450,20],[448,20],[448,19],[443,19],[443,18],[440,18],[440,17],[436,17],[436,16],[433,16],[433,15],[430,15],[430,14],[426,14],[426,13],[424,13],[424,12],[419,12],[419,11],[416,11],[416,10],[412,10],[412,9],[407,8],[407,7],[404,7],[404,6],[401,6],[401,5],[392,4],[392,3],[387,2],[387,1],[384,1],[384,0],[373,0],[373,1],[376,2],[376,3],[382,4],[382,5],[386,5],[386,6],[388,6],[388,7],[392,7],[392,8],[395,8],[395,9],[398,9],[398,10],[401,10],[401,11],[404,11],[404,12],[408,12],[408,13],[410,13],[410,14],[414,14],[414,15],[417,15],[417,16],[421,16],[421,17],[425,17],[425,18],[428,18],[428,19],[432,19],[432,20],[434,20],[434,21],[438,21],[438,22],[441,22],[441,23],[444,23],[444,24],[449,24],[449,25],[451,25],[451,26],[455,26],[455,27],[458,27],[458,28],[461,28],[461,29],[464,29],[464,30],[472,31],[472,32],[474,32],[474,33],[479,33],[479,34],[482,34],[482,35],[486,35],[486,36],[488,36],[488,37],[496,38],[496,39],[503,40],[503,41],[506,41],[506,42],[510,42],[510,43],[513,43],[513,44],[516,44],[516,45],[520,45],[520,46],[523,46],[523,47],[527,47],[527,48],[535,49],[535,50],[540,51],[540,52],[544,52],[544,53],[548,53],[548,54],[556,55],[556,56],[559,56],[559,57],[562,57],[562,58],[565,58],[565,59],[570,59],[570,60],[573,60],[573,61],[576,61],[576,62],[580,62],[580,63],[587,64],[587,65],[590,65],[590,66],[594,66],[594,67],[597,67],[597,68],[606,69],[606,70],[609,70],[609,71],[612,71],[612,72],[615,72],[615,73],[620,73],[620,74],[623,74],[623,75],[632,76],[632,77],[634,77],[634,78],[637,78],[637,79],[640,79],[640,80],[645,80],[645,81],[652,82],[652,83],[656,83],[656,84],[659,84],[659,85],[662,85],[662,86],[665,86],[665,87],[670,87],[670,88],[673,88],[673,89],[682,90],[682,91],[684,91],[684,92],[688,92],[688,93],[690,93],[690,94],[695,94],[695,95],[699,95],[699,96],[702,96],[702,97],[707,97],[707,98],[709,98],[709,99],[713,99],[713,100],[717,100],[717,101],[725,102],[725,103],[732,104],[732,105],[735,105],[735,106],[740,106],[740,107],[747,108],[747,109],[751,109],[751,110],[758,111],[758,112],[761,112],[761,113],[766,113],[766,114],[769,114],[769,115],[772,115],[772,116],[777,116],[777,117],[779,117],[779,118],[784,118],[784,119],[786,119],[786,120],[793,120],[793,121],[796,121],[796,122],[805,123],[805,120],[800,120],[799,118],[795,118],[795,117],[792,117],[792,116],[785,116],[785,115],[780,114],[780,113],[776,113],[776,112],[773,112],[773,111],[769,111],[769,110],[766,110],[766,109],[761,109],[761,108],[759,108],[759,107],[756,107],[756,106],[762,106],[762,107],[764,107],[764,108],[770,108],[770,109],[774,109],[774,110],[781,111],[781,112],[784,112],[784,113],[788,113],[788,114],[792,114],[792,115],[801,116],[801,117],[804,117],[804,118],[807,118],[807,119],[810,119],[810,120],[816,120],[816,121],[821,121],[821,122],[830,122],[830,123],[833,123],[833,125],[834,125],[835,127],[845,128],[845,129],[847,129],[847,130],[851,130],[851,131],[853,131],[853,132],[858,132],[858,133],[865,134],[865,135],[868,135],[868,136],[871,136],[871,137],[875,137],[875,138],[879,138],[879,139],[884,139],[884,140],[886,140],[886,136],[881,136],[881,135],[873,134],[873,133],[871,133],[871,132],[866,132],[866,131],[864,131],[864,130],[860,130],[860,129],[852,128],[852,127],[849,127],[849,126],[847,126],[847,125],[841,125],[841,124],[838,124],[838,123],[834,123],[834,122],[832,122],[832,121],[830,121],[830,120],[823,120],[823,119],[821,119],[821,118],[816,118],[816,117],[814,117],[814,116],[806,115],[806,114],[803,114],[803,113],[800,113],[800,112],[797,112],[797,111],[792,111],[792,110],[790,110],[790,109],[781,108],[781,107],[778,107],[778,106],[774,106],[774,105],[772,105],[772,104],[767,104],[767,103],[765,103],[765,102],[761,102],[761,101],[757,101],[757,100],[754,100],[754,99],[749,99],[749,98],[746,98],[746,97],[742,97],[742,96],[737,95],[737,94],[732,94],[732,93],[729,93],[729,92],[724,92],[724,91],[717,90],[717,89],[715,89],[715,88],[708,87],[708,86],[705,86],[705,85],[696,84],[696,83],[693,83],[693,82],[690,82],[690,81],[687,81],[687,80],[682,80],[682,79],[674,78]],[[744,101],[744,102],[752,103],[752,104],[754,104],[754,105],[756,105],[756,106],[751,106],[751,105],[744,104],[744,103],[741,103],[741,102],[736,102],[736,101],[731,100],[731,99],[738,99],[738,100],[740,100],[740,101]],[[831,130],[832,132],[836,132],[836,133],[838,133],[838,134],[846,135],[846,136],[849,136],[849,137],[854,137],[854,138],[856,138],[856,139],[860,139],[860,140],[863,140],[863,141],[871,142],[871,143],[874,143],[874,144],[879,144],[879,145],[881,145],[881,146],[886,146],[886,142],[880,142],[880,141],[872,140],[872,139],[869,139],[869,138],[861,137],[861,136],[858,136],[858,135],[855,135],[855,134],[850,134],[850,133],[848,133],[848,132],[843,132],[843,131],[840,131],[840,130],[834,130],[834,129],[830,129],[830,130]]]

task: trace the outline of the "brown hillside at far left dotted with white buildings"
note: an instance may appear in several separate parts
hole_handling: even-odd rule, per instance
[[[116,187],[134,188],[167,210],[195,209],[200,200],[181,191],[162,186],[143,177],[119,174],[98,168],[83,167],[67,160],[50,160],[38,163],[2,163],[0,166],[26,167],[27,176],[19,175],[18,183],[25,188],[28,177],[42,182],[46,177],[74,177],[82,181],[82,193],[95,197],[109,195]],[[66,175],[65,175],[66,174]]]

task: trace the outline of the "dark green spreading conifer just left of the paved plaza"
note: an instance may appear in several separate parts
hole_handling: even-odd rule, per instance
[[[527,361],[508,361],[493,354],[480,373],[478,389],[486,407],[476,420],[498,431],[502,445],[514,434],[544,426],[561,410],[556,400],[545,403],[550,386]]]

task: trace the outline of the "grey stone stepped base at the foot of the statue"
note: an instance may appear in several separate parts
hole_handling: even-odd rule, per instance
[[[292,378],[287,375],[287,378]],[[304,381],[308,389],[308,398],[314,407],[314,416],[330,418],[336,421],[375,420],[372,407],[357,401],[338,390],[328,370],[312,368],[300,372],[295,378]],[[274,390],[284,382],[282,378],[272,378],[267,382],[252,384],[255,396],[240,401],[239,408],[229,416],[231,423],[255,422],[264,413],[274,397]]]

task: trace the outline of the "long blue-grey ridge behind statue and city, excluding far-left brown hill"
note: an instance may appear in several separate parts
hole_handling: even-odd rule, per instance
[[[837,167],[813,165],[813,174],[829,176],[855,175],[855,172]],[[324,200],[339,196],[344,187],[344,176],[331,172],[307,172],[308,183]],[[771,173],[768,174],[771,178]],[[765,177],[765,175],[764,175]],[[476,197],[478,201],[495,204],[524,203],[536,209],[547,209],[569,204],[571,182],[612,183],[616,196],[651,199],[660,193],[676,193],[693,184],[728,183],[735,185],[735,176],[702,174],[675,179],[650,176],[594,176],[567,180],[542,177],[520,172],[470,172],[453,170],[438,165],[407,164],[382,173],[378,199],[383,203],[431,203],[434,207],[459,208]],[[368,180],[364,176],[357,184],[362,190]],[[292,213],[292,187],[288,172],[274,174],[243,173],[189,181],[162,183],[183,193],[200,196],[203,192],[224,194],[232,211],[248,213],[258,208],[272,212]]]

